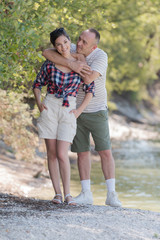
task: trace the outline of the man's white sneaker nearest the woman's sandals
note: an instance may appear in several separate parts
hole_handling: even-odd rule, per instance
[[[86,191],[81,192],[77,197],[74,198],[75,202],[78,204],[93,204],[92,192]]]

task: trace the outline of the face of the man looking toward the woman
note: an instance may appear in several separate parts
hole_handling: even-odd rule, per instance
[[[96,47],[95,34],[88,30],[82,32],[77,41],[77,53],[81,53],[86,57]]]

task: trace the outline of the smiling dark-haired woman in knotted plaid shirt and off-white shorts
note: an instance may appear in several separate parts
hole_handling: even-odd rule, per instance
[[[50,40],[56,50],[65,58],[75,60],[70,54],[70,38],[63,28],[50,33]],[[81,106],[76,108],[76,95],[80,76],[62,65],[45,61],[33,84],[33,92],[40,111],[37,121],[39,137],[45,139],[48,168],[55,190],[53,203],[62,203],[60,176],[62,179],[64,200],[75,205],[70,195],[70,163],[68,148],[76,134],[76,118],[88,105],[94,92],[94,83],[84,84],[86,91]],[[47,85],[47,95],[41,102],[41,88]]]

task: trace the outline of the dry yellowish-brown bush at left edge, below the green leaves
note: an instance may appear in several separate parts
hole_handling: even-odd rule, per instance
[[[29,105],[23,102],[23,95],[0,89],[0,136],[10,145],[16,159],[32,161],[38,137],[32,124]]]

